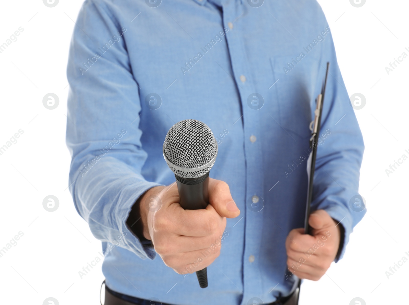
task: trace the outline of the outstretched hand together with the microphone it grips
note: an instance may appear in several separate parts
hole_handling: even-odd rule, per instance
[[[202,288],[207,287],[206,267],[220,255],[226,217],[240,214],[229,186],[209,178],[217,151],[216,139],[205,123],[176,123],[163,145],[176,184],[152,188],[140,200],[145,205],[140,209],[144,237],[152,240],[164,263],[177,273],[196,271]],[[146,208],[146,202],[156,208]]]

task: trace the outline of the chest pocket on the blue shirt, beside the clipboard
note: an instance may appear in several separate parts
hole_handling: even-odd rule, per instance
[[[276,82],[272,89],[274,88],[279,105],[279,118],[276,120],[294,140],[297,140],[297,137],[305,139],[311,135],[311,101],[313,84],[317,79],[317,66],[311,65],[308,58],[300,56],[294,58],[295,61],[299,60],[297,63],[294,61],[288,65],[289,60],[292,61],[289,56],[270,57]]]

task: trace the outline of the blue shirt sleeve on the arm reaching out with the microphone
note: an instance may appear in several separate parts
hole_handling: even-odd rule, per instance
[[[103,3],[84,2],[67,67],[69,185],[76,210],[97,239],[112,242],[125,236],[121,247],[153,259],[155,251],[126,225],[135,201],[159,184],[141,175],[147,154],[140,141],[141,105],[125,33]]]

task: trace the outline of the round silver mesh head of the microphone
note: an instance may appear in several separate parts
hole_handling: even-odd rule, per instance
[[[199,178],[212,168],[217,142],[209,126],[198,120],[183,120],[171,127],[163,144],[163,156],[175,175]]]

